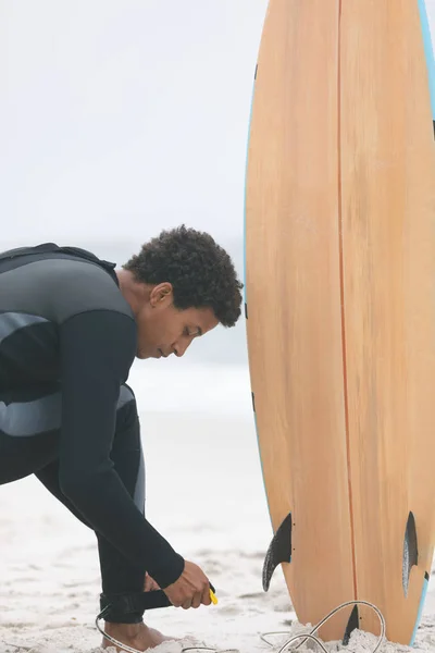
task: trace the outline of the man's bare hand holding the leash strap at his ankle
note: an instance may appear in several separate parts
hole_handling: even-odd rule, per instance
[[[175,607],[188,609],[211,603],[209,579],[198,565],[188,560],[182,576],[163,591]]]

